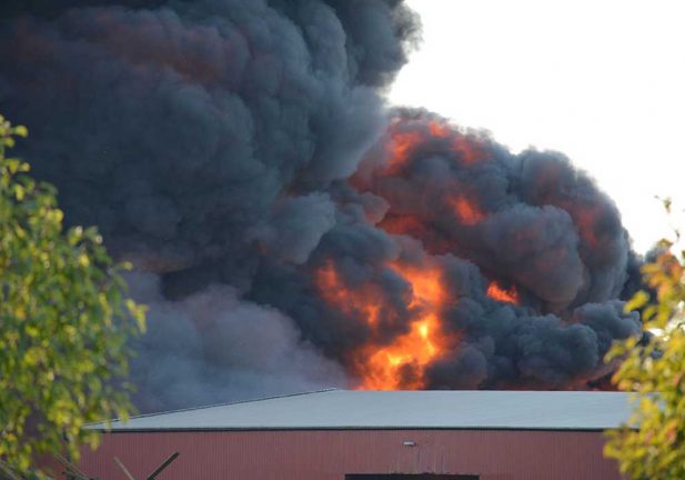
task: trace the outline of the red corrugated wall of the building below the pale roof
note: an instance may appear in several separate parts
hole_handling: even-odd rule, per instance
[[[415,447],[403,446],[414,441]],[[125,480],[119,457],[144,479],[172,452],[159,480],[343,480],[345,473],[471,473],[482,480],[619,480],[602,457],[602,432],[497,430],[279,430],[117,432],[82,469]]]

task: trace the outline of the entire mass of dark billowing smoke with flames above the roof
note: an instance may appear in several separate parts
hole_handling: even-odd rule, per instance
[[[2,12],[4,9],[4,12]],[[0,109],[150,304],[143,411],[338,386],[584,388],[637,259],[560,153],[382,91],[397,0],[0,7]]]

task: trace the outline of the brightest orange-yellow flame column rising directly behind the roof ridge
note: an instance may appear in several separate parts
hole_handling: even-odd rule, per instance
[[[363,390],[425,388],[425,368],[456,343],[456,339],[446,336],[441,328],[439,309],[445,301],[441,272],[397,264],[392,268],[411,283],[409,307],[417,314],[410,331],[395,338],[391,344],[362,349],[360,370],[363,381],[359,388]]]

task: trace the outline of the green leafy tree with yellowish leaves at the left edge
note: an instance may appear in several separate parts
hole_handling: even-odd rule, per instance
[[[6,158],[27,133],[0,116],[0,477],[24,478],[43,474],[41,454],[97,444],[84,423],[127,418],[127,340],[144,328],[128,267],[94,228],[66,229],[56,189]]]

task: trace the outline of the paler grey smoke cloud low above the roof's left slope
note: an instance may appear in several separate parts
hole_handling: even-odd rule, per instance
[[[349,387],[342,367],[303,342],[291,319],[241,300],[231,287],[170,301],[155,274],[128,280],[149,308],[131,376],[142,387],[134,400],[143,410]]]

